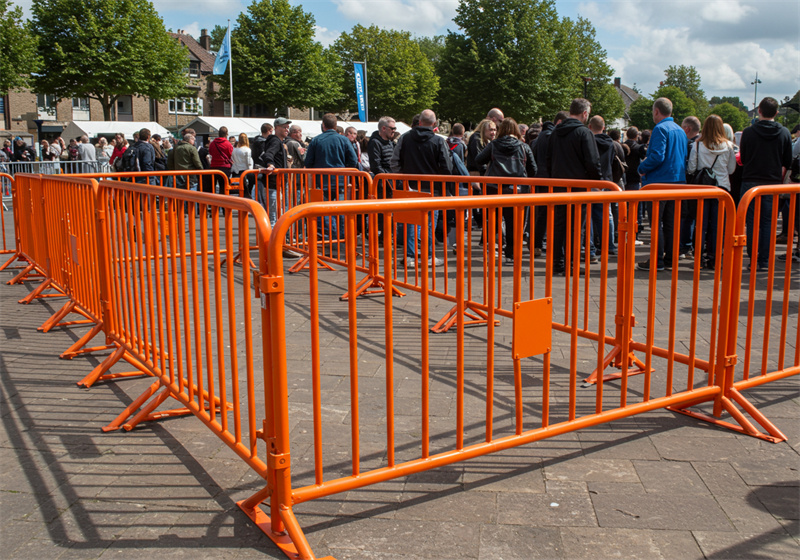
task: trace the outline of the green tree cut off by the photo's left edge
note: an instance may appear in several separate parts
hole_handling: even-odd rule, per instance
[[[0,95],[28,86],[41,62],[36,43],[22,23],[22,8],[0,0]]]

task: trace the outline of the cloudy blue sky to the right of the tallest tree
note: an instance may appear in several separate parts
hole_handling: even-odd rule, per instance
[[[759,97],[793,95],[800,84],[800,3],[789,4],[678,0],[665,11],[662,2],[588,2],[579,11],[594,24],[609,64],[626,85],[636,83],[650,94],[668,66],[694,66],[709,97],[734,95],[752,103],[756,72]],[[781,13],[793,23],[776,18]]]

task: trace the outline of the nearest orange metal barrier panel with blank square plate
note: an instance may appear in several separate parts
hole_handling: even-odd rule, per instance
[[[306,223],[310,267],[307,275],[285,275],[279,247],[269,247],[269,274],[262,285],[273,287],[262,305],[270,316],[268,413],[274,416],[267,420],[266,435],[274,442],[275,484],[240,507],[273,538],[288,531],[300,554],[311,557],[291,511],[294,504],[657,408],[718,400],[717,330],[727,324],[731,261],[714,271],[701,271],[698,261],[668,275],[655,267],[636,273],[635,227],[624,223],[623,254],[614,266],[608,221],[601,227],[599,262],[589,256],[588,205],[601,206],[605,216],[616,202],[625,215],[635,216],[645,201],[654,203],[657,214],[659,202],[689,200],[701,208],[716,201],[719,239],[729,245],[733,201],[719,189],[422,196],[289,210],[273,234],[282,239]],[[546,210],[549,239],[555,228],[564,228],[564,276],[553,273],[554,249],[546,259],[526,254],[522,233],[528,207]],[[466,217],[475,209],[485,213],[486,227],[483,235],[468,237]],[[455,254],[449,246],[439,253],[447,259],[440,274],[429,260],[437,250],[429,248],[428,222],[444,210],[456,215]],[[505,232],[512,253],[498,265],[503,249],[498,222],[504,214],[513,218]],[[347,267],[323,276],[317,227],[325,217],[339,215],[345,217]],[[353,240],[357,220],[365,215],[369,223],[381,215],[385,225],[383,243],[373,253],[383,299],[355,297]],[[420,228],[413,282],[407,273],[396,274],[395,223]],[[729,247],[725,251],[720,243],[714,254],[718,264],[730,254]],[[477,266],[470,268],[470,260]],[[713,286],[706,295],[700,293],[701,281]],[[470,282],[481,297],[472,297]],[[341,285],[347,286],[346,303],[335,302],[332,287]],[[418,297],[392,297],[397,286]],[[432,335],[431,318],[453,304],[455,328]],[[471,327],[468,304],[485,313],[484,326]],[[679,320],[677,312],[684,308],[688,318]],[[635,314],[641,317],[636,322]],[[724,340],[724,333],[720,336]],[[300,352],[310,353],[310,366],[308,360],[292,360]],[[610,365],[621,371],[582,385],[593,369],[602,372]],[[269,517],[258,508],[266,498]]]

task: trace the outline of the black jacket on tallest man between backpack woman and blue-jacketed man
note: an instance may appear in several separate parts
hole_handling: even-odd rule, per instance
[[[561,121],[547,143],[547,173],[558,179],[600,179],[594,134],[578,119]]]

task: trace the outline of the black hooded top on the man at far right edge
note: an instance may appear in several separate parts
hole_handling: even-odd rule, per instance
[[[743,182],[782,183],[781,167],[792,165],[789,129],[775,121],[759,120],[742,132],[739,156]]]

